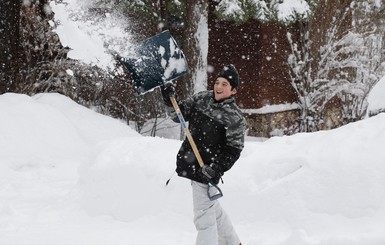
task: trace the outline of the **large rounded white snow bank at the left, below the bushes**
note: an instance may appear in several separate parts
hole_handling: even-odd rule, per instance
[[[12,161],[76,159],[97,142],[138,135],[60,94],[3,94],[0,111],[0,156]]]

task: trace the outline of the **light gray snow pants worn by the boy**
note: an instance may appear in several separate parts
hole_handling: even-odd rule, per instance
[[[218,200],[210,201],[207,185],[192,181],[196,245],[239,245],[238,235]],[[214,188],[211,188],[214,190]]]

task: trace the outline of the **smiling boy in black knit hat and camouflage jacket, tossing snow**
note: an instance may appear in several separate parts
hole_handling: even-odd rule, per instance
[[[218,184],[224,172],[238,160],[244,146],[246,122],[234,95],[239,87],[239,75],[233,65],[219,72],[212,91],[202,91],[179,101],[178,105],[197,145],[205,165],[201,168],[186,139],[177,155],[179,176],[191,180],[194,224],[198,231],[196,245],[239,245],[240,240],[230,219],[218,200],[208,197],[208,183]],[[170,96],[175,96],[171,84],[161,88],[165,104],[172,110]]]

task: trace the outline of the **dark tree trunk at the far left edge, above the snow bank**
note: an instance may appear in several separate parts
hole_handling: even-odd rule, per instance
[[[12,91],[20,66],[21,1],[0,1],[0,94]]]

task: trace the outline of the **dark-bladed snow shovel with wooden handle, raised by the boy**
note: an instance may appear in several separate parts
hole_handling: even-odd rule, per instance
[[[156,87],[163,86],[167,82],[188,72],[186,58],[169,31],[161,32],[145,40],[137,48],[136,53],[137,58],[121,58],[120,60],[134,80],[135,88],[139,95],[152,91]],[[170,100],[195,157],[199,165],[203,167],[203,159],[186,125],[178,103],[174,96],[171,96]],[[210,193],[211,187],[217,190],[215,194]],[[207,195],[210,200],[216,200],[223,196],[221,189],[211,181],[208,185]]]

